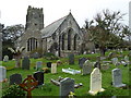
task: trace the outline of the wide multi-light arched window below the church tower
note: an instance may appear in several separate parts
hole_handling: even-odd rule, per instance
[[[32,51],[34,49],[37,49],[37,39],[36,38],[29,38],[27,40],[27,51]]]

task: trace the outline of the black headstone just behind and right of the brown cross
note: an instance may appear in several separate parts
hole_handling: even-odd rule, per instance
[[[35,72],[33,76],[36,81],[38,81],[38,86],[44,84],[44,72],[40,72],[40,71]]]

